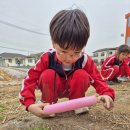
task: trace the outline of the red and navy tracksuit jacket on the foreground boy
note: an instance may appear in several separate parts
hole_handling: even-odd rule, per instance
[[[28,75],[23,80],[22,88],[19,93],[20,102],[26,107],[35,103],[34,91],[39,77],[44,70],[51,68],[55,70],[61,77],[65,77],[61,64],[59,62],[57,63],[55,57],[55,51],[44,53],[40,60],[36,63],[35,67],[28,71]],[[55,66],[56,64],[58,69]],[[94,86],[99,95],[109,95],[114,100],[114,90],[108,87],[107,83],[102,80],[94,61],[87,54],[84,54],[78,61],[76,61],[75,68],[71,73],[78,68],[84,69],[89,74],[91,78],[91,85]],[[71,73],[69,73],[69,75],[71,75]]]

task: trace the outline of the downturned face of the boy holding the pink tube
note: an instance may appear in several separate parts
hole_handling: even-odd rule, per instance
[[[56,50],[57,58],[64,64],[64,65],[70,65],[75,63],[83,54],[83,49],[81,50],[72,50],[62,49],[59,45],[53,44],[54,49]]]

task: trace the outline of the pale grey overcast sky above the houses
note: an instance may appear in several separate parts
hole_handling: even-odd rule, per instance
[[[0,0],[0,53],[29,55],[52,48],[49,23],[58,11],[69,8],[79,8],[88,17],[89,55],[124,44],[130,0]]]

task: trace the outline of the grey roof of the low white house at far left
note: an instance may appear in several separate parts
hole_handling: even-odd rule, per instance
[[[22,54],[17,54],[17,53],[1,53],[0,57],[3,58],[26,58],[26,55],[22,55]]]

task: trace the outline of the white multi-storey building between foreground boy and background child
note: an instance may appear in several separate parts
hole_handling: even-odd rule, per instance
[[[100,65],[108,56],[113,55],[116,52],[116,49],[117,48],[115,47],[96,50],[93,52],[92,59],[97,65]]]

